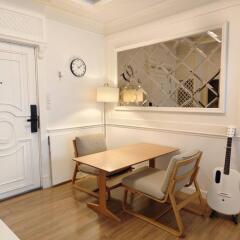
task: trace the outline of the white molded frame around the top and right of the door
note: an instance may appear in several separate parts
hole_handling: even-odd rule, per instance
[[[48,133],[47,133],[47,109],[46,109],[46,48],[47,48],[47,31],[46,31],[46,17],[41,11],[35,11],[31,8],[27,9],[21,6],[14,6],[7,3],[0,4],[0,10],[8,11],[9,16],[13,16],[12,22],[18,22],[19,17],[27,16],[28,19],[24,21],[25,25],[35,28],[31,25],[31,20],[35,19],[39,25],[37,34],[26,34],[21,30],[14,30],[11,24],[3,29],[0,28],[0,41],[12,44],[33,47],[35,53],[35,68],[36,68],[36,93],[37,102],[40,115],[40,129],[39,129],[39,167],[40,167],[40,184],[41,187],[47,188],[51,184],[51,165],[48,147]]]

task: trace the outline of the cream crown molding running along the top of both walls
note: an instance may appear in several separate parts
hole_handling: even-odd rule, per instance
[[[95,4],[95,9],[97,9],[98,6],[102,7],[104,4],[108,4],[111,1],[112,0],[100,1]],[[192,17],[240,5],[239,0],[219,0],[212,3],[208,3],[208,0],[203,0],[199,1],[198,4],[193,4],[192,0],[185,0],[185,4],[182,4],[179,0],[168,0],[147,7],[141,11],[137,11],[129,16],[104,23],[104,21],[97,21],[88,17],[86,15],[86,9],[79,10],[79,12],[76,13],[69,8],[51,3],[51,1],[35,0],[35,2],[41,3],[45,6],[44,14],[48,19],[53,19],[64,24],[69,24],[77,28],[98,34],[104,34],[106,36],[153,22],[160,21],[163,23],[171,23],[176,22],[176,20],[184,21]],[[190,7],[186,9],[186,5],[189,5]],[[172,10],[173,6],[175,11]]]

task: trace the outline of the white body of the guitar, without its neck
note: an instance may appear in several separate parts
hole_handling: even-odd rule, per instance
[[[240,174],[234,169],[224,174],[224,169],[217,167],[213,171],[212,184],[207,193],[208,205],[215,211],[236,215],[240,213]]]

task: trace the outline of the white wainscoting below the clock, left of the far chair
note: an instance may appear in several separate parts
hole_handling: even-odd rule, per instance
[[[74,168],[73,139],[91,133],[101,133],[102,126],[89,125],[49,129],[49,149],[51,159],[52,185],[71,180]]]

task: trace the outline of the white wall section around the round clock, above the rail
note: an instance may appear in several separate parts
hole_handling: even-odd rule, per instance
[[[76,78],[70,72],[73,57],[85,61],[85,76]],[[105,75],[104,37],[47,20],[46,61],[48,128],[100,124],[96,88]]]

